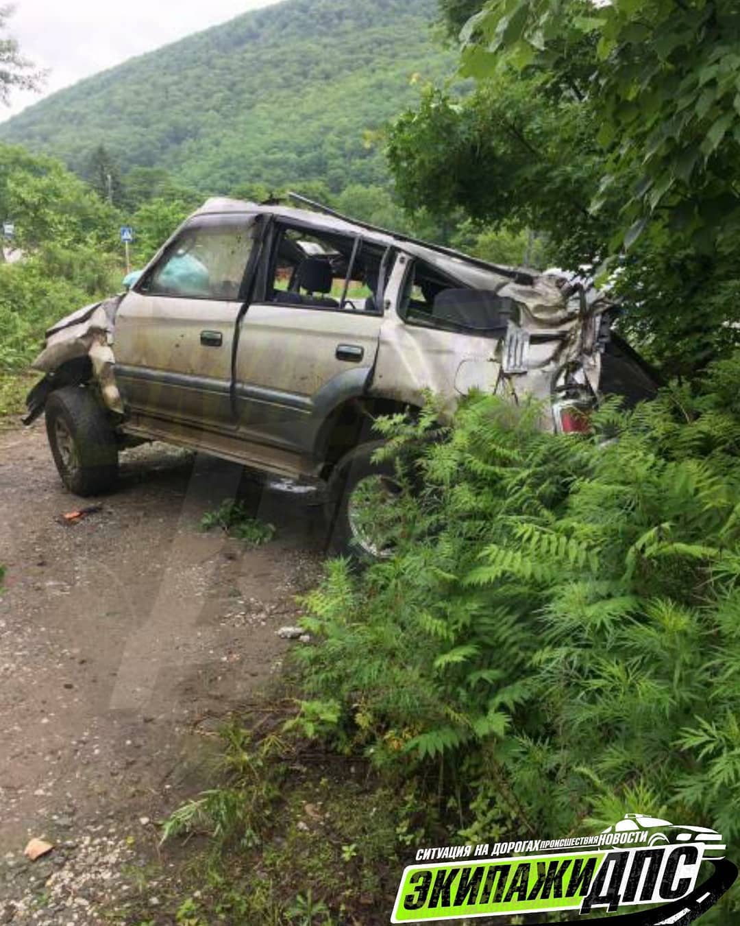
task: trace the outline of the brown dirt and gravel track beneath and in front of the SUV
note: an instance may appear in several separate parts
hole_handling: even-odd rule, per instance
[[[68,523],[91,501],[63,489],[43,422],[0,434],[0,923],[97,922],[152,821],[203,785],[199,724],[248,703],[296,645],[277,629],[320,568],[320,519],[255,490],[274,541],[203,532],[241,477],[144,445],[103,509]],[[56,849],[28,862],[39,836]]]

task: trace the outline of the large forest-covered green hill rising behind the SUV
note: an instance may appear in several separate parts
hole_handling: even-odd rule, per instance
[[[0,141],[77,170],[103,143],[123,169],[209,192],[383,182],[364,132],[453,68],[436,14],[436,0],[285,0],[80,81],[0,125]]]

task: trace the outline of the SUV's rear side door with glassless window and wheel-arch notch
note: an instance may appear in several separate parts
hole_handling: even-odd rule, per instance
[[[300,257],[289,257],[294,249],[278,254],[287,231],[274,230],[263,293],[240,323],[235,395],[247,439],[307,454],[330,411],[363,394],[371,377],[383,314],[370,278],[377,279],[385,250],[349,236],[317,242],[318,232],[295,231],[304,259],[329,260],[337,274],[305,294],[296,286]]]

